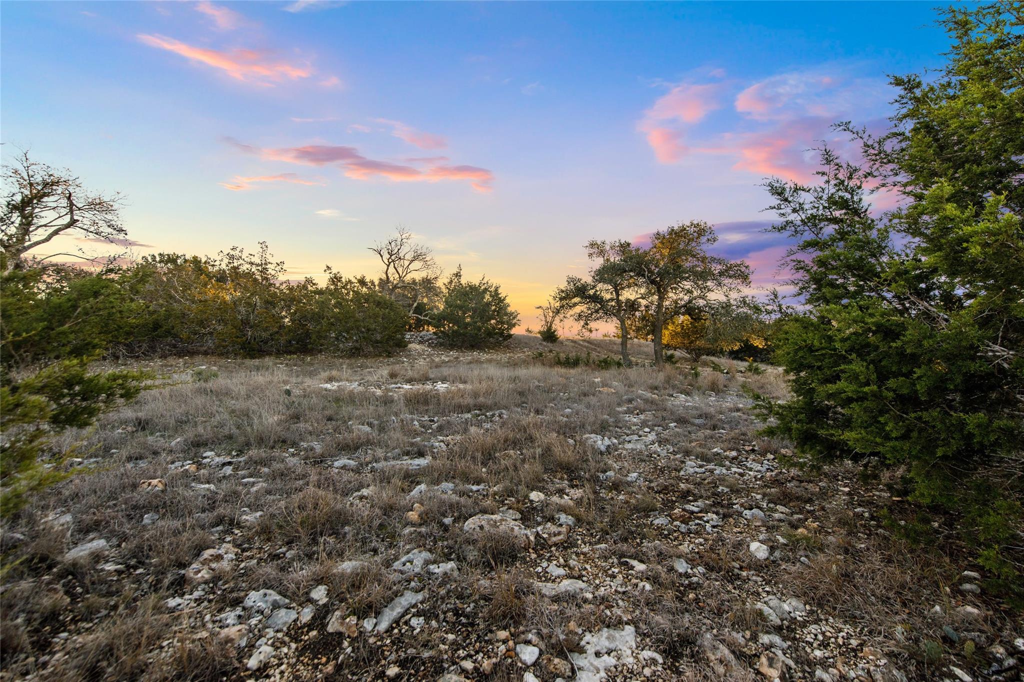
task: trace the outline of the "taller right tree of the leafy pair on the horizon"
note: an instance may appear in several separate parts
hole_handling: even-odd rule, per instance
[[[751,282],[751,269],[745,263],[708,253],[716,241],[718,236],[708,223],[679,223],[654,232],[648,248],[631,248],[624,259],[644,289],[657,367],[665,366],[666,320],[707,305],[715,295],[738,291]]]

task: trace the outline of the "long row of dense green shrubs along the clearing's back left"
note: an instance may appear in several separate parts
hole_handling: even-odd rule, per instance
[[[142,310],[125,353],[387,354],[403,348],[409,314],[367,279],[328,271],[283,279],[266,244],[213,259],[161,254],[116,274]]]

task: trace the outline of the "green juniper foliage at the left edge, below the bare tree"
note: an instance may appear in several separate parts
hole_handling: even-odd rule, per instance
[[[0,256],[0,266],[6,265]],[[0,515],[67,475],[55,436],[89,426],[141,391],[145,373],[92,371],[132,306],[109,280],[77,270],[0,274]]]

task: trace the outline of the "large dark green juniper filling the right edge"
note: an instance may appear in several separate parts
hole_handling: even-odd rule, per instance
[[[1012,5],[951,8],[949,63],[893,79],[867,163],[822,153],[814,186],[771,181],[806,313],[776,359],[795,398],[772,430],[817,461],[898,467],[924,505],[963,511],[990,571],[1019,575],[1024,497],[1024,37]],[[870,189],[902,207],[881,217]],[[1017,549],[1014,549],[1014,548]]]

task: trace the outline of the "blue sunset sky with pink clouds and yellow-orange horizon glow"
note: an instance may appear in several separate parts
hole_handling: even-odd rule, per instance
[[[589,239],[716,225],[777,278],[765,178],[941,64],[927,2],[0,3],[0,154],[126,197],[134,255],[266,241],[373,274],[403,226],[531,322]],[[852,148],[850,148],[852,151]],[[104,245],[69,242],[90,255]]]

